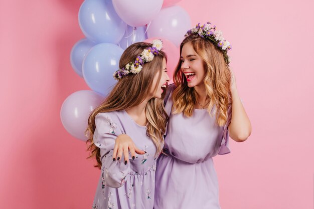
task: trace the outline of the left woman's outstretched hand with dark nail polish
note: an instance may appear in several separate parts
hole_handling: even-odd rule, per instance
[[[128,162],[129,151],[131,152],[132,159],[135,159],[135,153],[145,154],[146,152],[138,149],[133,140],[126,134],[121,134],[115,139],[112,160],[121,160],[122,153],[124,155],[124,164]]]

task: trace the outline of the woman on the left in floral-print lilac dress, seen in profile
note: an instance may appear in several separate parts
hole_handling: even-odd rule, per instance
[[[135,43],[122,54],[118,80],[88,119],[88,150],[101,169],[93,208],[153,207],[156,159],[164,145],[168,115],[164,100],[169,77],[162,42]],[[115,138],[134,138],[136,152],[112,160]]]

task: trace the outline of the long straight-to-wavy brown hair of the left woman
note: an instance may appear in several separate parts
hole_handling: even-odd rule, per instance
[[[149,43],[139,42],[129,46],[122,54],[119,62],[119,68],[123,68],[127,63],[133,62],[135,58],[141,54],[144,49],[151,47]],[[101,168],[100,160],[100,148],[95,146],[93,140],[93,134],[95,131],[95,117],[101,112],[111,112],[125,110],[127,108],[139,105],[144,99],[147,98],[149,92],[153,88],[156,91],[159,88],[158,84],[161,80],[163,69],[163,58],[166,58],[166,54],[160,51],[158,55],[154,56],[151,62],[143,64],[143,68],[138,74],[128,74],[120,79],[113,87],[109,96],[105,101],[95,108],[88,118],[88,128],[85,131],[85,135],[88,137],[87,150],[90,151],[88,158],[95,157],[97,164],[95,167]],[[151,86],[154,76],[160,72],[157,85]],[[166,124],[168,121],[168,115],[164,109],[164,91],[162,98],[152,98],[147,102],[145,112],[147,119],[147,134],[156,146],[156,155],[162,151],[162,145],[164,143],[163,134],[166,131]]]

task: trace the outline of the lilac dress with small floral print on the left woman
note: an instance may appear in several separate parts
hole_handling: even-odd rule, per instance
[[[92,208],[150,209],[153,207],[156,148],[140,126],[125,111],[98,113],[95,117],[94,143],[101,150],[101,175]],[[129,163],[112,160],[115,138],[125,133],[146,154],[136,155]]]

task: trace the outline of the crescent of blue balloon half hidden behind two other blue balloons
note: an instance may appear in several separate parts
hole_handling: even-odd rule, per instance
[[[81,39],[78,41],[71,50],[70,61],[74,71],[83,78],[82,64],[87,52],[96,45],[88,39]]]

